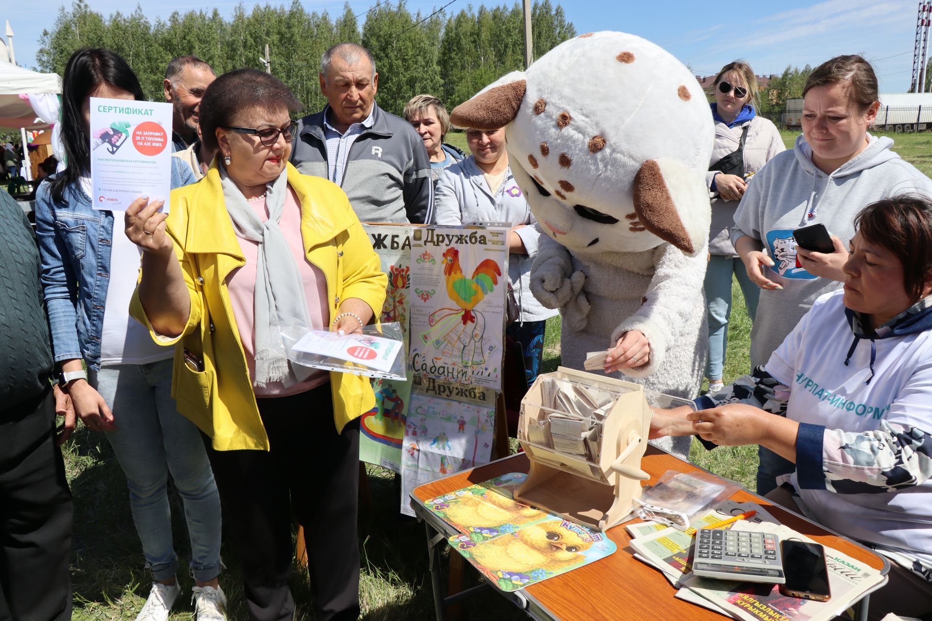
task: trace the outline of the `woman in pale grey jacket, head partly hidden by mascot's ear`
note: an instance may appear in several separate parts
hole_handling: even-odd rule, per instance
[[[558,313],[544,308],[530,292],[530,266],[541,229],[508,166],[504,130],[467,129],[466,142],[473,155],[445,169],[437,181],[436,223],[496,222],[514,227],[508,241],[508,283],[520,316],[507,333],[521,344],[529,385],[540,371],[546,319]]]

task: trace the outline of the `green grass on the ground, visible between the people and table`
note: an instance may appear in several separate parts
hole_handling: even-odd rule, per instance
[[[796,132],[781,132],[788,148]],[[932,134],[898,134],[893,136],[896,150],[926,174],[932,173]],[[465,136],[451,132],[447,142],[467,151]],[[750,321],[744,299],[733,283],[733,314],[725,358],[726,382],[747,373],[750,366]],[[560,360],[560,322],[547,322],[543,371],[553,371]],[[149,591],[150,578],[144,571],[144,559],[130,515],[126,480],[113,452],[103,436],[81,428],[64,449],[65,465],[75,496],[75,530],[72,579],[75,590],[75,621],[134,619]],[[757,470],[756,447],[722,447],[706,451],[693,442],[690,454],[699,466],[734,479],[754,489]],[[366,466],[373,497],[373,511],[360,515],[359,540],[362,551],[360,596],[363,619],[395,621],[398,619],[432,619],[431,577],[427,567],[424,530],[415,520],[398,517],[398,493],[393,475],[376,466]],[[172,501],[172,519],[176,548],[183,565],[190,558],[180,502]],[[326,533],[308,535],[308,547]],[[446,554],[446,553],[445,553]],[[230,598],[230,618],[246,619],[236,552],[228,537],[224,539],[223,557],[227,570],[222,584]],[[445,563],[444,563],[445,564]],[[184,572],[183,572],[184,574]],[[171,614],[173,621],[192,618],[189,603],[191,579],[180,575],[185,594]],[[468,581],[474,581],[473,575]],[[298,605],[296,618],[312,619],[312,599],[307,576],[300,570],[292,580]],[[523,618],[498,594],[484,592],[464,604],[465,618],[499,621]]]

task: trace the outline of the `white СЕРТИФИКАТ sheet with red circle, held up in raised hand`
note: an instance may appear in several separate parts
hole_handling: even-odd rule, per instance
[[[171,103],[90,98],[94,209],[122,211],[140,196],[171,193]]]

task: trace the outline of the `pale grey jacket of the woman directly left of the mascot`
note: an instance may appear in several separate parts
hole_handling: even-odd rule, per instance
[[[537,256],[541,228],[530,212],[524,193],[514,182],[511,168],[505,171],[499,191],[493,196],[473,155],[447,167],[437,180],[434,209],[437,224],[528,224],[516,231],[521,236],[528,254],[512,252],[508,257],[508,282],[512,284],[514,299],[521,308],[519,320],[541,321],[547,317],[554,317],[559,312],[544,308],[530,292],[530,266]]]

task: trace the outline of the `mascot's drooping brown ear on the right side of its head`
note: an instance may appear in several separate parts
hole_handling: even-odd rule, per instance
[[[664,173],[652,159],[637,170],[634,199],[637,219],[644,228],[683,252],[692,254],[695,251],[666,187]]]

